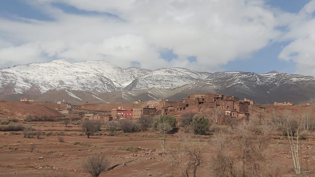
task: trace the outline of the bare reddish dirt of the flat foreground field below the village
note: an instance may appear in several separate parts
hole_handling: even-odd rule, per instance
[[[73,177],[88,177],[90,174],[81,172],[82,163],[86,157],[92,154],[102,153],[110,162],[110,166],[117,165],[110,171],[103,172],[100,176],[112,177],[133,177],[133,176],[166,176],[171,170],[167,155],[158,155],[161,152],[161,136],[155,132],[137,132],[130,134],[120,134],[108,136],[105,130],[103,135],[94,135],[90,139],[80,136],[80,127],[76,125],[61,125],[58,122],[31,122],[27,123],[37,130],[42,130],[40,139],[24,138],[22,132],[11,135],[10,132],[0,132],[0,176],[11,177],[43,177],[56,173],[66,173]],[[103,128],[104,129],[104,128]],[[50,134],[50,135],[49,135]],[[127,137],[123,137],[127,135]],[[176,134],[175,134],[176,135]],[[208,142],[213,135],[200,136],[199,138]],[[60,143],[58,137],[62,137],[65,142]],[[150,138],[149,138],[150,137]],[[279,136],[280,137],[280,136]],[[306,167],[306,160],[309,168],[315,167],[314,144],[315,140],[309,140],[308,155],[310,158],[302,159],[303,168]],[[280,165],[280,172],[284,177],[294,176],[292,172],[292,159],[288,158],[289,147],[287,140],[272,140],[268,152],[268,158],[274,159]],[[74,142],[81,144],[74,145]],[[85,144],[83,144],[85,143]],[[169,135],[167,146],[176,146],[178,141],[174,135]],[[209,145],[209,143],[208,143]],[[31,146],[34,147],[31,151]],[[140,146],[137,152],[116,150],[118,146]],[[11,147],[11,148],[10,148]],[[301,141],[302,154],[306,150],[305,141]],[[15,149],[16,150],[12,150]],[[203,167],[198,168],[197,176],[208,177],[210,148],[204,152]],[[151,150],[151,151],[150,151]],[[43,157],[43,160],[38,160]],[[44,167],[42,166],[49,166]],[[315,176],[311,174],[310,176]]]

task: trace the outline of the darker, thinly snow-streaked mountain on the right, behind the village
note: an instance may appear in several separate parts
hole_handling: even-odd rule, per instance
[[[207,79],[177,88],[169,99],[189,93],[224,93],[256,100],[258,103],[293,101],[312,102],[315,77],[285,73],[216,72]]]

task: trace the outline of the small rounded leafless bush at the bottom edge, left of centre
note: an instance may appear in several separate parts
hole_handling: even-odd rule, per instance
[[[103,155],[93,155],[89,156],[83,163],[83,169],[90,174],[92,177],[98,177],[101,172],[106,171],[109,162]]]

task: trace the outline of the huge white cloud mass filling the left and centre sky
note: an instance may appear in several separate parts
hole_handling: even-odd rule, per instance
[[[109,12],[123,20],[67,14],[50,5],[53,2]],[[0,65],[54,57],[69,61],[104,59],[122,67],[137,61],[147,69],[218,71],[228,61],[249,57],[280,35],[275,29],[278,21],[263,0],[37,0],[32,4],[55,20],[0,19],[0,31],[9,36],[4,42],[0,38]],[[179,58],[160,58],[159,51],[165,48]],[[188,56],[196,56],[196,62],[190,63]]]

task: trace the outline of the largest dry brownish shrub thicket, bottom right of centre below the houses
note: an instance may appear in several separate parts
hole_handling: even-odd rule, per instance
[[[242,121],[235,128],[217,134],[211,145],[216,153],[210,163],[217,177],[279,176],[278,165],[266,159],[274,128]]]

